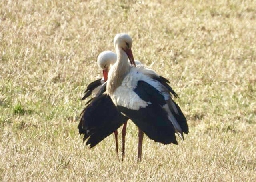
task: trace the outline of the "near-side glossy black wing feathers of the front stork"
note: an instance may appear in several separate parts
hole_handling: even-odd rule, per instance
[[[139,110],[123,106],[117,106],[117,109],[128,116],[150,139],[163,144],[178,144],[174,126],[162,108],[166,104],[164,96],[156,88],[141,80],[138,81],[134,92],[148,102],[148,106]]]

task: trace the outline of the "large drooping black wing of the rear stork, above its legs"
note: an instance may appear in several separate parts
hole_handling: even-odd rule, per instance
[[[79,134],[90,148],[117,130],[128,118],[117,111],[110,96],[103,94],[92,100],[80,114]]]

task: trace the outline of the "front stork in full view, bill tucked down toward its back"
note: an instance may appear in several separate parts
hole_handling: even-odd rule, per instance
[[[130,36],[117,34],[114,46],[117,61],[108,72],[106,91],[118,111],[138,126],[138,161],[141,161],[143,132],[156,142],[178,144],[175,133],[184,140],[183,132],[188,133],[188,125],[170,95],[177,94],[166,80],[144,66],[136,67]],[[134,66],[128,64],[128,58]]]

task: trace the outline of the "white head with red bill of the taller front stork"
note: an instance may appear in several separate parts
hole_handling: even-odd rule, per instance
[[[121,34],[116,34],[115,38],[114,38],[114,46],[116,48],[116,50],[123,50],[124,52],[126,52],[131,65],[136,66],[135,62],[134,62],[134,58],[132,55],[132,38],[125,33],[121,33]],[[117,52],[117,51],[116,51]]]

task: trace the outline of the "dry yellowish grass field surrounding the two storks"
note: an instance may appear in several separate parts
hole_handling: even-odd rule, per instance
[[[139,165],[132,122],[124,162],[114,135],[90,150],[77,129],[120,32],[170,79],[190,126],[178,146],[145,137]],[[255,60],[253,0],[2,0],[0,181],[256,181]]]

